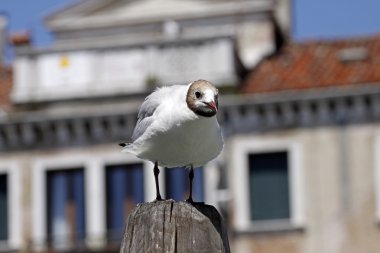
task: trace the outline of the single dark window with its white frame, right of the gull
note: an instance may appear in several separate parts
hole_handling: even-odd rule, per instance
[[[301,145],[290,138],[235,137],[229,165],[233,224],[263,232],[304,226]]]

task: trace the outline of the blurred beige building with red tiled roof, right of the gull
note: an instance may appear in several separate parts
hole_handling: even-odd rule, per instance
[[[290,43],[224,107],[236,252],[378,252],[379,63],[379,36]]]

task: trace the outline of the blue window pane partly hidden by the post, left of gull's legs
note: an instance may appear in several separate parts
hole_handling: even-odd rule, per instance
[[[141,163],[106,167],[106,202],[108,241],[120,243],[127,215],[144,202]]]

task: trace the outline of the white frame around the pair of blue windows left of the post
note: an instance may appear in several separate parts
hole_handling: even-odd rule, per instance
[[[32,241],[35,250],[47,247],[47,196],[46,172],[83,168],[85,192],[85,245],[90,249],[107,245],[106,219],[106,167],[119,164],[142,163],[144,170],[144,198],[155,198],[153,164],[125,153],[105,153],[96,156],[92,152],[64,152],[32,161]],[[148,172],[149,171],[149,172]],[[146,176],[148,174],[148,176]],[[160,175],[162,181],[162,175]]]

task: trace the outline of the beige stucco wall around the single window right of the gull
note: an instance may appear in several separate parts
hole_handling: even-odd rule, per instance
[[[375,139],[379,125],[321,127],[238,135],[226,144],[228,172],[235,173],[233,149],[242,140],[291,140],[302,149],[305,222],[302,229],[239,233],[233,252],[378,252]],[[239,192],[233,189],[232,196]],[[233,202],[232,202],[233,203]],[[238,208],[236,203],[230,209]],[[233,227],[234,220],[231,220]]]

